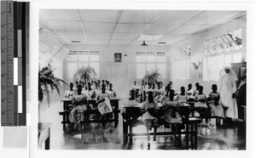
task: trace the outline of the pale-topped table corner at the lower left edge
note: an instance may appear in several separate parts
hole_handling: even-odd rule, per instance
[[[38,123],[38,147],[45,143],[45,150],[49,150],[50,125],[49,122]]]

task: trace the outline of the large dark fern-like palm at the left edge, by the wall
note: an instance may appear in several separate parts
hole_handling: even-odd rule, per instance
[[[60,94],[60,83],[64,82],[62,79],[55,77],[51,69],[51,65],[45,66],[41,71],[38,72],[38,101],[42,102],[44,99],[44,95],[47,96],[47,100],[49,103],[49,90],[53,92],[56,90],[57,93]]]

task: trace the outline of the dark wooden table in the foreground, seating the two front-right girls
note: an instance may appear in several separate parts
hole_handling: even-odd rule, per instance
[[[143,122],[137,120],[137,117],[141,116],[141,110],[138,106],[139,103],[131,102],[127,104],[121,104],[123,108],[123,138],[124,142],[127,142],[129,138],[130,143],[132,144],[132,136],[142,136],[147,135],[147,133],[132,133],[132,127],[136,125],[143,125]],[[161,110],[161,107],[160,107]],[[186,148],[189,149],[189,141],[192,149],[197,149],[197,123],[201,122],[199,118],[189,118],[189,105],[179,106],[179,113],[181,116],[184,116],[183,125],[185,126],[185,131],[179,131],[177,134],[185,134],[186,139]],[[149,133],[153,135],[154,133]],[[160,132],[156,135],[169,135],[173,132]],[[190,137],[189,137],[190,136]]]

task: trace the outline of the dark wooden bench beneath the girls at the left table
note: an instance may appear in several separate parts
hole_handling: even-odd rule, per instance
[[[113,118],[110,118],[108,120],[103,120],[103,119],[100,119],[100,118],[88,118],[84,121],[81,121],[81,124],[87,123],[87,122],[101,122],[102,124],[104,124],[104,122],[106,122],[106,121],[113,121],[114,122],[114,127],[117,127],[118,124],[119,124],[119,113],[120,113],[120,111],[121,110],[113,110]],[[84,113],[83,113],[83,115],[88,115],[88,116],[90,116],[91,114],[101,115],[98,110],[88,110],[88,111],[84,111]],[[67,124],[73,124],[72,122],[70,122],[68,120],[69,113],[67,111],[60,111],[59,115],[62,116],[61,124],[63,125],[63,131],[66,132],[66,125]]]

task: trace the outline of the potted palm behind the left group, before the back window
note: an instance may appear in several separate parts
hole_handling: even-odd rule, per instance
[[[73,76],[73,82],[88,82],[90,81],[92,78],[95,78],[96,76],[96,71],[90,67],[90,66],[86,66],[86,67],[82,67],[79,68],[79,70],[77,70]]]

